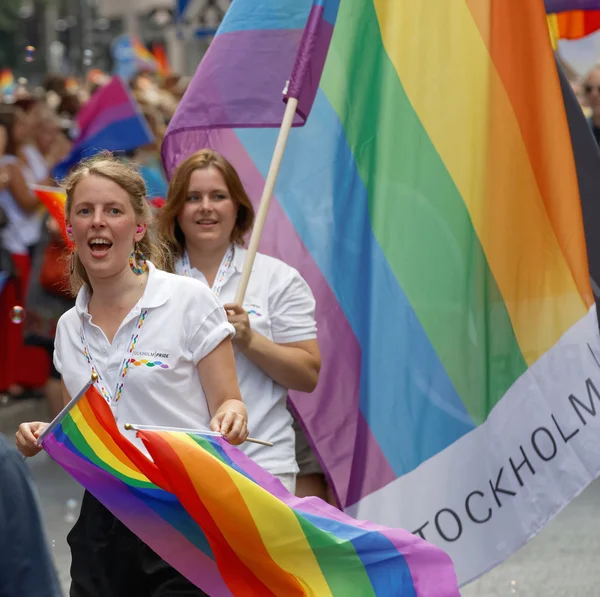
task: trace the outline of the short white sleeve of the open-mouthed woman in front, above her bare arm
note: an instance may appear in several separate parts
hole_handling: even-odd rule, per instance
[[[192,353],[194,365],[197,365],[207,354],[211,353],[225,338],[234,335],[234,327],[227,321],[225,309],[213,293],[202,284],[197,300],[202,305],[193,310],[200,315],[200,320],[191,321],[188,349]],[[206,313],[208,312],[208,315]]]

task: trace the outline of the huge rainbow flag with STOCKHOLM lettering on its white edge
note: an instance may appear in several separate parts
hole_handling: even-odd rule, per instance
[[[465,583],[600,472],[582,222],[598,153],[563,94],[542,2],[321,4],[339,5],[335,30],[261,244],[316,297],[321,377],[291,399],[346,511],[443,547]],[[311,9],[234,0],[190,86],[205,93],[171,121],[169,172],[213,147],[260,197],[277,130],[221,118],[243,99],[246,63],[219,38],[254,36],[250,73],[267,76],[265,40]]]

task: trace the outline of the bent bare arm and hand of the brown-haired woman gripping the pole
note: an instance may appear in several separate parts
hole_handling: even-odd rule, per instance
[[[235,327],[233,342],[252,363],[288,390],[312,392],[321,370],[321,353],[316,339],[278,344],[250,327],[245,309],[225,305],[229,323]]]

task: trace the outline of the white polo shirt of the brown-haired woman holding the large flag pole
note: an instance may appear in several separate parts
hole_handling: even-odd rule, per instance
[[[219,294],[223,304],[234,302],[246,252],[235,247]],[[183,273],[181,260],[175,269]],[[192,268],[192,276],[207,284],[199,270]],[[277,344],[317,337],[315,299],[310,287],[297,270],[279,259],[261,253],[256,255],[243,307],[248,311],[252,329]],[[249,433],[274,444],[268,448],[246,442],[240,448],[272,474],[297,473],[295,434],[286,408],[288,390],[238,350],[235,350],[235,361],[240,391],[248,409]]]

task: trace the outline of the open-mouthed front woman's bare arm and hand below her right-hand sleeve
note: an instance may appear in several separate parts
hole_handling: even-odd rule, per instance
[[[210,428],[230,444],[248,437],[248,413],[242,402],[231,340],[226,338],[198,362],[198,373],[212,415]]]

